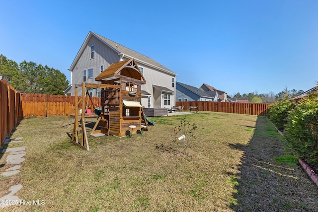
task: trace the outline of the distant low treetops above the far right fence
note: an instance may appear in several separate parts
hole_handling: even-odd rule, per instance
[[[251,93],[244,93],[240,94],[239,92],[237,94],[234,94],[234,97],[237,98],[248,98],[248,101],[251,103],[274,103],[281,100],[286,100],[290,98],[294,98],[295,96],[298,96],[300,94],[304,93],[303,90],[289,90],[287,87],[284,88],[283,91],[275,94],[274,92],[269,93],[261,93],[258,94],[257,91],[251,92]]]

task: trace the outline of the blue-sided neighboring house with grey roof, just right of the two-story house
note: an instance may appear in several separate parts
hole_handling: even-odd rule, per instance
[[[218,92],[204,92],[199,88],[176,82],[176,101],[218,101]]]

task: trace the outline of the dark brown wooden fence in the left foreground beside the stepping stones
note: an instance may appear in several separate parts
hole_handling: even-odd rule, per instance
[[[0,80],[0,141],[10,136],[13,128],[21,121],[21,93],[10,86],[5,79]]]

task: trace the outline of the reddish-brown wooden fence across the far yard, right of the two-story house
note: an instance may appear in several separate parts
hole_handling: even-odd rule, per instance
[[[240,102],[175,102],[175,106],[183,106],[184,110],[198,107],[198,111],[213,111],[224,113],[239,113],[249,115],[266,115],[267,103],[240,103]]]

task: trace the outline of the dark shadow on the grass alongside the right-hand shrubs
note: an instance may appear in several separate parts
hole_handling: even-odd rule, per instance
[[[243,151],[239,172],[233,180],[236,193],[230,202],[234,211],[318,209],[317,205],[311,204],[313,198],[317,199],[312,195],[316,188],[301,167],[275,160],[286,154],[285,146],[282,137],[266,117],[257,118],[254,134],[248,144],[230,146]],[[301,193],[299,188],[302,186],[308,186],[311,192]]]

